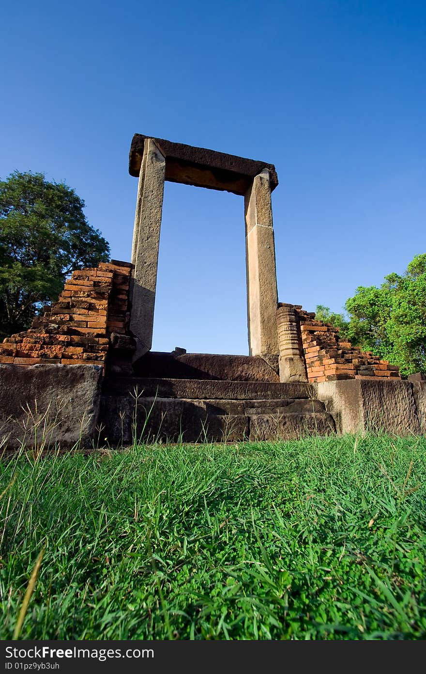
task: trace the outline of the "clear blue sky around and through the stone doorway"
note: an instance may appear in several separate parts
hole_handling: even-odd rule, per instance
[[[275,164],[279,301],[341,311],[425,241],[423,0],[2,9],[0,177],[65,181],[129,260],[133,133]],[[242,197],[166,183],[153,348],[248,353]]]

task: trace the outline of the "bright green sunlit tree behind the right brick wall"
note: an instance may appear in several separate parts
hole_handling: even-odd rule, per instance
[[[416,255],[402,276],[359,286],[345,303],[348,317],[318,305],[317,317],[341,328],[363,350],[399,365],[402,376],[426,372],[426,253]]]

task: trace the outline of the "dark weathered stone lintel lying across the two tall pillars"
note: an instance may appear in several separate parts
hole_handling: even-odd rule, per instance
[[[129,173],[139,177],[145,140],[151,138],[166,158],[165,179],[172,183],[195,185],[245,195],[256,175],[269,171],[271,191],[278,185],[273,164],[225,154],[206,148],[194,148],[170,140],[135,133],[129,154]]]

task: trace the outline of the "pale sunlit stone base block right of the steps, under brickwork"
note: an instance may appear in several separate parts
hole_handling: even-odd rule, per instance
[[[341,433],[382,431],[395,435],[420,433],[409,381],[344,379],[314,384],[316,396],[335,416]]]

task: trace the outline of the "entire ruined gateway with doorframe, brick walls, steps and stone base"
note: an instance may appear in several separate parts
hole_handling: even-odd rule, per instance
[[[0,344],[0,444],[123,446],[311,433],[426,433],[426,382],[279,303],[272,164],[141,134],[132,261],[75,270],[32,327]],[[249,356],[151,351],[164,181],[244,196]],[[30,415],[30,417],[28,417]],[[47,430],[46,430],[47,429]]]

